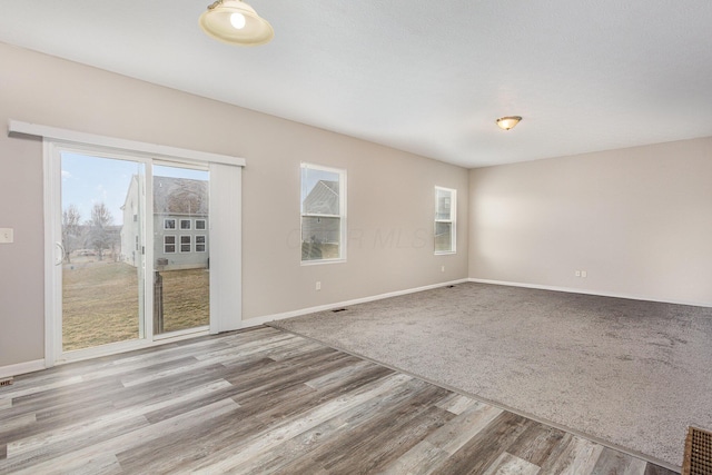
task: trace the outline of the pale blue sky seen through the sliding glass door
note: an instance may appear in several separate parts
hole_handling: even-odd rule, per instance
[[[131,177],[144,174],[145,166],[130,160],[98,158],[88,155],[62,152],[62,209],[75,205],[81,222],[91,218],[91,208],[103,202],[113,216],[113,225],[122,225],[121,206],[126,199]],[[162,177],[208,179],[208,172],[155,166],[154,174]]]

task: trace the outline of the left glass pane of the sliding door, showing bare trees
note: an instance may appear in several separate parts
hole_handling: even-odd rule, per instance
[[[62,352],[144,337],[145,167],[62,151]]]

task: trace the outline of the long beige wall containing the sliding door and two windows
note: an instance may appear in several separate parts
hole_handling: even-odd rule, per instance
[[[244,157],[244,318],[467,277],[467,170],[0,43],[9,119]],[[299,164],[346,168],[348,260],[300,266]],[[461,197],[433,255],[433,188]],[[0,133],[0,367],[43,357],[42,147]],[[441,266],[445,265],[445,273]],[[322,290],[315,290],[316,280]]]

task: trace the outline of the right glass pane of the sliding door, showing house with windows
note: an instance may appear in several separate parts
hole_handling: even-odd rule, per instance
[[[209,175],[154,166],[154,334],[210,321]]]

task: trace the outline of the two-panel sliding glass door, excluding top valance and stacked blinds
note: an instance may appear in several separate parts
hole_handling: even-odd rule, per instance
[[[61,146],[50,165],[55,358],[207,333],[207,165]]]

